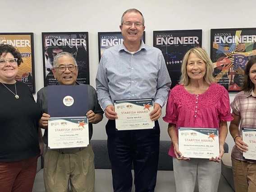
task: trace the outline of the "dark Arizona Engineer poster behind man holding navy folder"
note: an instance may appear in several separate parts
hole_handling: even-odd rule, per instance
[[[71,53],[78,64],[77,82],[89,84],[88,32],[42,32],[44,86],[55,85],[53,59],[61,52]]]

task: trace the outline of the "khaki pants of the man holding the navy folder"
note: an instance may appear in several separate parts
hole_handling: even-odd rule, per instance
[[[72,149],[46,151],[43,174],[46,192],[68,192],[69,180],[72,192],[94,192],[94,153],[91,145],[71,152]]]

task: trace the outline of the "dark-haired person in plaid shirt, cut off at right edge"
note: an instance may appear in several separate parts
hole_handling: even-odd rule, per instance
[[[229,132],[235,142],[231,152],[235,190],[236,192],[255,192],[256,160],[243,158],[243,152],[249,153],[247,152],[249,143],[242,139],[242,128],[256,129],[256,56],[248,61],[244,70],[242,91],[235,96],[230,106],[234,114]],[[251,142],[254,142],[253,134],[250,138]]]

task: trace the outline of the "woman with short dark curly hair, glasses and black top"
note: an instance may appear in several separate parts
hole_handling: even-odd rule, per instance
[[[15,80],[22,62],[18,49],[0,44],[0,192],[32,192],[43,152],[41,110],[29,87]]]

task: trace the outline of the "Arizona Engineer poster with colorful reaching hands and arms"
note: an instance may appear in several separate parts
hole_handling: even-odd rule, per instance
[[[256,28],[211,29],[210,39],[216,82],[229,92],[240,91],[245,66],[256,55]]]

